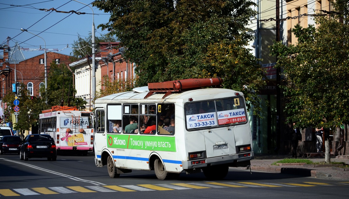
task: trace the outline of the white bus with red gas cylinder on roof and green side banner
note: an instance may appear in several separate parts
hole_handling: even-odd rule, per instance
[[[155,170],[158,179],[201,170],[221,179],[229,167],[250,165],[254,154],[243,93],[201,89],[220,83],[220,78],[149,83],[97,99],[96,166],[106,165],[112,178],[135,169]]]

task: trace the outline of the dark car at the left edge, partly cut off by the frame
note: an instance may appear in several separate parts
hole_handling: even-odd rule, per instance
[[[3,136],[0,139],[0,154],[18,153],[20,154],[20,146],[22,139],[19,136]]]

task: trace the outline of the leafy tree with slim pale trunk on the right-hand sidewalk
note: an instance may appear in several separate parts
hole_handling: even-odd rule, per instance
[[[349,121],[349,25],[342,23],[341,12],[348,10],[345,3],[337,0],[339,12],[331,17],[316,16],[318,28],[296,25],[292,32],[297,44],[270,46],[271,55],[279,55],[276,67],[283,69],[288,122],[334,129]],[[326,153],[328,161],[329,148]]]

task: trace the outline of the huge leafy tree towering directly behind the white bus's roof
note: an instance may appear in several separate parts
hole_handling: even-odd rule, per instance
[[[135,86],[186,78],[221,77],[225,88],[243,91],[258,105],[265,84],[259,60],[244,46],[253,39],[245,26],[255,15],[248,0],[97,0],[111,13],[110,31],[137,64]],[[259,106],[256,106],[259,107]]]

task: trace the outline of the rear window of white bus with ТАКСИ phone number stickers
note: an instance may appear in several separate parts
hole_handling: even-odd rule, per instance
[[[185,115],[188,130],[247,122],[242,97],[187,103],[185,104]]]

